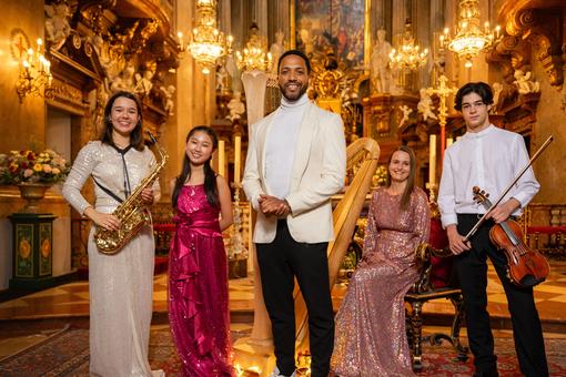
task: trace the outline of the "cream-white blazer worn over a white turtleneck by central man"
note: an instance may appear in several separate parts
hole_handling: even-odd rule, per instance
[[[292,167],[291,206],[287,226],[296,242],[320,243],[334,240],[331,196],[344,187],[346,143],[342,119],[309,102],[299,130]],[[253,234],[255,243],[275,238],[277,218],[259,211],[260,194],[272,195],[265,184],[265,141],[279,110],[252,126],[242,185],[257,211]]]

